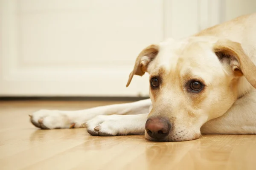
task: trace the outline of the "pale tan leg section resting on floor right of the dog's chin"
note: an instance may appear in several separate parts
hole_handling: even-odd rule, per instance
[[[206,122],[204,134],[256,134],[256,90],[238,99],[223,116]]]

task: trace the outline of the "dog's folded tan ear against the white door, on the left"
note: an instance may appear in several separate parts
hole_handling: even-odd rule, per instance
[[[134,69],[129,75],[128,82],[126,87],[128,87],[131,83],[132,77],[135,75],[143,76],[147,71],[148,64],[151,62],[158,54],[159,46],[158,45],[149,45],[148,47],[144,48],[143,51],[140,52],[138,55]]]

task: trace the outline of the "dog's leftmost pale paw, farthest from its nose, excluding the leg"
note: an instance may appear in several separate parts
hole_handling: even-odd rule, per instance
[[[40,110],[32,113],[30,122],[41,129],[73,128],[76,126],[67,115],[55,110]]]

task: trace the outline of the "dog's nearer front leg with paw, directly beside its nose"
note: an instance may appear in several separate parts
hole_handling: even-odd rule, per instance
[[[148,113],[138,115],[100,115],[86,124],[93,136],[143,135]]]

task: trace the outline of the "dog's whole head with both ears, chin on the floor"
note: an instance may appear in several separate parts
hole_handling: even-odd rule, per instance
[[[145,136],[157,141],[198,139],[201,126],[222,116],[241,94],[256,88],[256,66],[240,43],[209,37],[150,45],[137,57],[134,75],[150,74],[152,109]]]

